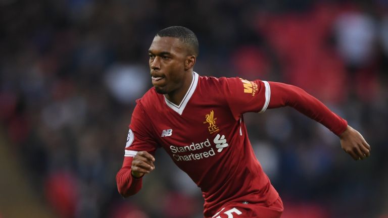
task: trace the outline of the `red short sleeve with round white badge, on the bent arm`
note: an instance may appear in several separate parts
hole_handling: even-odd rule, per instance
[[[151,121],[139,104],[132,113],[125,145],[126,157],[134,157],[137,151],[147,151],[154,155],[157,143],[152,136]]]

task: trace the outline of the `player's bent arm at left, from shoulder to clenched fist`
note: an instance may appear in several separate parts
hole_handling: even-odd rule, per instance
[[[123,166],[116,175],[117,189],[123,197],[140,191],[142,177],[155,169],[153,154],[157,144],[150,123],[146,113],[137,104],[129,125]]]

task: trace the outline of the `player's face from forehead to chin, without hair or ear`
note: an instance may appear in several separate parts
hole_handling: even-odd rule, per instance
[[[184,81],[186,48],[174,37],[155,36],[149,49],[152,84],[160,94],[179,89]]]

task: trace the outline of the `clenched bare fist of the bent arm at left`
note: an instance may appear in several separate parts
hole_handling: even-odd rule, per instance
[[[135,178],[140,178],[155,169],[155,158],[147,151],[138,151],[133,157],[131,174]]]

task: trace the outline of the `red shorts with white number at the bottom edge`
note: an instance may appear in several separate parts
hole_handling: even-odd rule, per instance
[[[209,218],[279,218],[283,212],[280,197],[269,206],[248,202],[226,203],[216,214]]]

